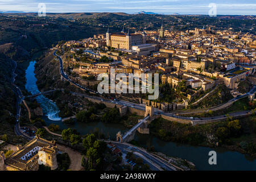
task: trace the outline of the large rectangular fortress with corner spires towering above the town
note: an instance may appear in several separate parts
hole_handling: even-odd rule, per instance
[[[130,50],[131,46],[140,44],[146,44],[146,33],[142,34],[130,34],[129,30],[127,34],[125,32],[110,33],[109,29],[106,32],[106,45],[118,49]]]

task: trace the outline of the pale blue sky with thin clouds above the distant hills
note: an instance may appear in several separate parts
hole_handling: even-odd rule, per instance
[[[0,0],[0,11],[38,12],[45,3],[46,13],[150,11],[159,14],[206,14],[210,3],[217,15],[256,15],[255,0]]]

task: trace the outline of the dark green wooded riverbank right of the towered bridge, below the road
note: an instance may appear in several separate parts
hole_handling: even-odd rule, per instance
[[[239,120],[232,120],[232,117],[229,117],[226,121],[196,126],[158,118],[151,122],[150,132],[166,141],[209,147],[218,144],[218,146],[256,156],[255,115]]]

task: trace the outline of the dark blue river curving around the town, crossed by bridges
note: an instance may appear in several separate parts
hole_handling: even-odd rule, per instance
[[[26,71],[26,89],[32,94],[40,93],[38,86],[36,85],[34,66],[35,61],[31,61]],[[114,123],[91,122],[75,123],[75,125],[72,126],[64,125],[60,121],[61,118],[58,116],[59,109],[54,102],[44,96],[38,96],[36,100],[43,108],[43,119],[46,121],[47,125],[55,123],[60,125],[60,129],[72,127],[82,135],[92,133],[94,129],[98,128],[99,131],[113,140],[115,140],[115,134],[118,131],[121,131],[122,133],[127,131],[121,124]],[[135,135],[135,140],[141,144],[141,146],[154,146],[156,151],[162,152],[163,154],[187,159],[193,162],[198,170],[256,170],[256,159],[253,159],[248,155],[243,155],[240,152],[225,150],[224,148],[196,147],[188,144],[165,142],[152,135],[139,134],[138,132]],[[210,165],[208,163],[210,157],[208,154],[209,151],[212,150],[217,152],[216,165]]]

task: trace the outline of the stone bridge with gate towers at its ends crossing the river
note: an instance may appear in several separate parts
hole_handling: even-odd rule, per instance
[[[154,107],[146,105],[146,111],[143,119],[139,119],[138,123],[134,125],[129,131],[125,134],[122,134],[121,131],[117,133],[118,142],[130,142],[134,139],[136,131],[143,134],[149,134],[149,129],[147,127],[148,123],[154,117]]]

